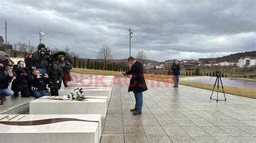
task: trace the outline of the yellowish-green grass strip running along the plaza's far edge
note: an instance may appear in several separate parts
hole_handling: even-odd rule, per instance
[[[82,73],[82,74],[114,75],[114,76],[117,76],[117,77],[124,77],[121,74],[120,71],[73,68],[71,70],[71,72],[73,72],[73,73]],[[148,75],[148,74],[144,74],[144,76],[145,76],[145,78],[147,78],[149,80],[172,82],[171,80],[167,80],[168,78],[172,78],[171,75]],[[181,76],[181,77],[188,77],[188,76]],[[186,85],[186,86],[189,86],[189,87],[207,89],[207,90],[212,90],[213,89],[213,84],[187,82],[187,81],[180,81],[179,84]],[[217,87],[215,87],[215,91],[217,91]],[[219,91],[222,92],[222,89],[219,88]],[[225,91],[226,94],[232,94],[232,95],[238,95],[238,96],[243,96],[243,97],[256,99],[256,90],[254,90],[254,89],[224,86],[224,91]]]

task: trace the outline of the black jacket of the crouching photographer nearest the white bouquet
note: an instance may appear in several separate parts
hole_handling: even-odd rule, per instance
[[[37,78],[35,75],[30,80],[31,89],[33,91],[42,91],[46,85],[50,84],[50,79],[46,77]]]

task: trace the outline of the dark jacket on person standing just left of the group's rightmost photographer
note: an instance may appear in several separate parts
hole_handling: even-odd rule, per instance
[[[55,64],[57,64],[57,63],[53,62],[52,65],[47,70],[47,74],[49,75],[50,81],[52,83],[56,83],[57,81],[61,82],[62,81],[62,77],[63,77],[62,68],[60,68],[59,66],[58,66],[57,70],[54,70],[52,68],[52,66],[55,65]]]

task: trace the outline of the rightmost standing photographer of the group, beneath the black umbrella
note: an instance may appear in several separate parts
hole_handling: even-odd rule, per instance
[[[63,84],[65,87],[68,87],[68,81],[72,81],[72,77],[70,75],[70,70],[72,69],[72,65],[68,60],[65,60],[65,57],[62,55],[60,56],[60,59],[57,61],[58,66],[60,68],[62,68],[63,71]],[[59,85],[58,85],[58,89],[60,89],[62,85],[62,82],[60,81]]]

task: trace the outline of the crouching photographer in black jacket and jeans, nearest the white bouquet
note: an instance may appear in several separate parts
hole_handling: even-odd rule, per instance
[[[47,74],[41,74],[39,69],[33,70],[33,77],[31,80],[32,96],[40,98],[42,96],[49,96],[45,90],[47,84],[50,84],[50,79]]]

